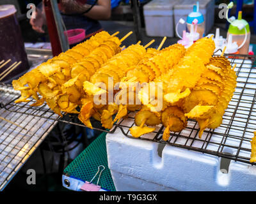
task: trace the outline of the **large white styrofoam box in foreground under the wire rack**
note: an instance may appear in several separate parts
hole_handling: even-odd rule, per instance
[[[193,150],[127,138],[117,129],[106,136],[108,165],[116,191],[255,191],[256,167]],[[227,150],[228,152],[228,150]]]

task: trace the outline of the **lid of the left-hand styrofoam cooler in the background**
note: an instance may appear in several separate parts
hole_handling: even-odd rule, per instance
[[[143,6],[143,10],[172,10],[175,1],[173,0],[153,0]]]

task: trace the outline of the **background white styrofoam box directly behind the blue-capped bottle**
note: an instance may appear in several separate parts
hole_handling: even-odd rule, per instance
[[[173,17],[174,27],[179,22],[180,18],[187,20],[189,13],[193,11],[193,5],[199,2],[199,11],[204,15],[205,36],[214,25],[214,0],[173,0]],[[186,24],[179,24],[178,32],[182,36],[182,31],[186,30]],[[175,33],[175,36],[177,34]]]

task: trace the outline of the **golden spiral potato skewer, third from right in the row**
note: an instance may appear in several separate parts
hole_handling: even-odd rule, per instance
[[[161,70],[160,73],[156,73],[156,75],[154,75],[154,77],[150,79],[154,80],[155,82],[155,80],[160,76],[166,75],[166,73],[170,72],[170,70],[172,70],[176,66],[176,64],[179,63],[180,59],[184,57],[184,54],[185,54],[185,48],[179,44],[175,44],[161,50],[161,52],[159,52],[159,54],[156,55],[155,57],[152,57],[152,59],[150,59],[151,61],[148,63],[148,64],[152,64],[152,66],[150,67],[155,67],[155,70],[157,69]],[[161,62],[163,62],[163,64],[161,64]],[[142,67],[145,68],[145,66],[142,66]],[[158,81],[156,80],[156,82]],[[151,84],[153,86],[151,86]],[[147,92],[144,91],[145,88]],[[163,94],[162,94],[164,87],[159,87],[157,84],[155,85],[154,83],[151,83],[151,82],[145,85],[144,89],[141,89],[139,92],[139,98],[144,108],[143,108],[143,111],[136,113],[136,116],[135,116],[136,126],[130,128],[132,136],[138,137],[145,133],[150,133],[154,131],[155,128],[148,128],[145,125],[156,126],[161,122],[162,109],[157,110],[158,108],[156,107],[156,105],[159,105],[159,103],[156,103],[156,105],[152,105],[152,103],[148,103],[152,101],[151,97],[148,95],[148,90],[152,88],[154,89],[154,94],[153,94],[154,98],[156,98],[153,100],[155,102],[158,101],[159,103],[162,103],[162,109],[166,107],[166,103],[165,101],[163,101]],[[160,98],[162,100],[159,100],[159,98],[157,98],[158,97],[157,93],[159,92],[161,93]],[[136,118],[140,118],[140,120],[136,120]]]

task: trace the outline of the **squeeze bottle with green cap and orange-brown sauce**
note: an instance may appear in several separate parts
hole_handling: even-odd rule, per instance
[[[233,3],[228,4],[228,9],[232,8]],[[227,11],[228,13],[228,11]],[[237,19],[234,17],[228,18],[230,25],[228,27],[227,39],[232,34],[232,41],[235,41],[238,46],[239,54],[248,54],[250,45],[250,26],[246,20],[242,18],[242,11],[238,12]]]

